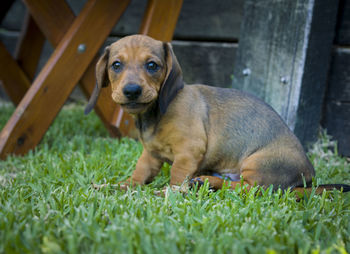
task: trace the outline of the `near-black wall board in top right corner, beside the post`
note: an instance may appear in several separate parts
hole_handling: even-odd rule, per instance
[[[335,44],[350,45],[350,0],[339,1]]]

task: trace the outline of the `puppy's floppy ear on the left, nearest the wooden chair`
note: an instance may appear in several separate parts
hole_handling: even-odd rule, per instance
[[[98,96],[102,87],[107,87],[109,85],[108,79],[108,56],[109,47],[105,48],[103,55],[100,57],[96,64],[96,86],[91,94],[88,104],[85,108],[85,114],[89,114],[90,111],[95,107]]]

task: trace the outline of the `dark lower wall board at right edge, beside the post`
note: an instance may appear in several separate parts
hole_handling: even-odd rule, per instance
[[[339,152],[350,156],[350,49],[336,48],[326,93],[322,126],[338,141]]]

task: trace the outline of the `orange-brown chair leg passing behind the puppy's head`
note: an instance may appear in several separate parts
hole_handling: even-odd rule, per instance
[[[149,0],[140,27],[140,34],[146,34],[157,40],[171,41],[180,15],[182,0]],[[111,124],[116,124],[123,135],[135,137],[131,131],[135,124],[133,118],[116,108]]]

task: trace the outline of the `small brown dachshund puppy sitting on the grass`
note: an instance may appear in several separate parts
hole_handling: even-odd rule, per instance
[[[129,181],[146,184],[164,162],[172,163],[171,186],[186,179],[221,188],[243,183],[286,189],[311,182],[315,171],[303,147],[263,101],[235,89],[184,85],[169,43],[144,35],[124,37],[105,49],[96,67],[102,87],[132,114],[143,152]],[[213,176],[213,174],[215,176]]]

